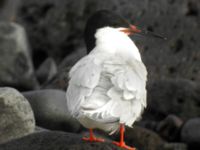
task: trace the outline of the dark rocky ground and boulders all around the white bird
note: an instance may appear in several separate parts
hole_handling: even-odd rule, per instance
[[[88,132],[65,104],[68,71],[86,54],[86,20],[100,9],[168,38],[133,37],[149,73],[148,107],[126,129],[127,144],[200,149],[198,0],[2,0],[0,8],[0,150],[118,149],[118,134],[83,142]]]

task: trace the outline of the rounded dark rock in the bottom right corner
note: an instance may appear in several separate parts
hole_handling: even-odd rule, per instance
[[[200,118],[188,120],[181,131],[181,140],[192,149],[200,149]]]

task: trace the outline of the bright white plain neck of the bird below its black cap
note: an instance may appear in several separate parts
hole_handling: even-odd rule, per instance
[[[141,61],[141,56],[135,43],[124,33],[101,30],[97,32],[95,51],[109,53],[124,59]]]

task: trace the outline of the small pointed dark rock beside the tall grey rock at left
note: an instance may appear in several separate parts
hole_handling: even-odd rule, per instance
[[[43,84],[50,81],[57,74],[57,65],[52,58],[47,58],[37,69],[38,81]]]

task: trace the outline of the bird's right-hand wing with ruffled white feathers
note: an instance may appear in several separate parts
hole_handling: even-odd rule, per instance
[[[120,59],[118,62],[109,61],[104,67],[112,74],[113,86],[107,92],[110,101],[106,113],[131,126],[146,107],[146,68],[137,60],[128,63]]]

